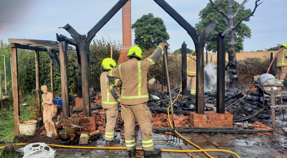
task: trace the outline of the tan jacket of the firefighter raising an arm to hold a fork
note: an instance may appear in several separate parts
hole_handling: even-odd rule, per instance
[[[146,59],[138,61],[129,59],[108,72],[108,79],[115,83],[120,79],[123,83],[121,91],[121,104],[136,105],[149,100],[147,92],[147,72],[158,61],[164,50],[160,43],[155,51]]]

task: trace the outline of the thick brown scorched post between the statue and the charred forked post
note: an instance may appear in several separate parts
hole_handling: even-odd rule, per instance
[[[60,69],[61,69],[61,92],[62,92],[62,107],[63,117],[70,117],[69,107],[69,87],[68,87],[68,62],[67,51],[68,43],[66,41],[59,42],[60,51]]]

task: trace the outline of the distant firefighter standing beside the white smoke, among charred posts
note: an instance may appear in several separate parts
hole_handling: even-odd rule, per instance
[[[190,89],[191,96],[195,96],[195,93],[196,93],[196,51],[193,51],[193,53],[191,54],[191,57],[187,58],[187,61],[188,60],[190,60],[190,62],[187,63],[187,89]]]

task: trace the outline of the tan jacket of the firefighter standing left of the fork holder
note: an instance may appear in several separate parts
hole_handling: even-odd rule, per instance
[[[102,107],[104,109],[109,109],[118,104],[120,101],[120,93],[118,92],[117,86],[120,86],[122,83],[119,79],[115,81],[115,84],[112,84],[107,78],[108,72],[103,72],[100,77],[101,83],[101,94],[102,94]],[[112,95],[115,93],[116,95]],[[114,96],[117,96],[114,98]]]

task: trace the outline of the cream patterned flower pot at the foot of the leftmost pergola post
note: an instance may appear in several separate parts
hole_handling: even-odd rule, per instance
[[[33,136],[36,132],[37,121],[30,120],[30,121],[24,121],[24,122],[25,124],[18,123],[19,132],[24,135]]]

